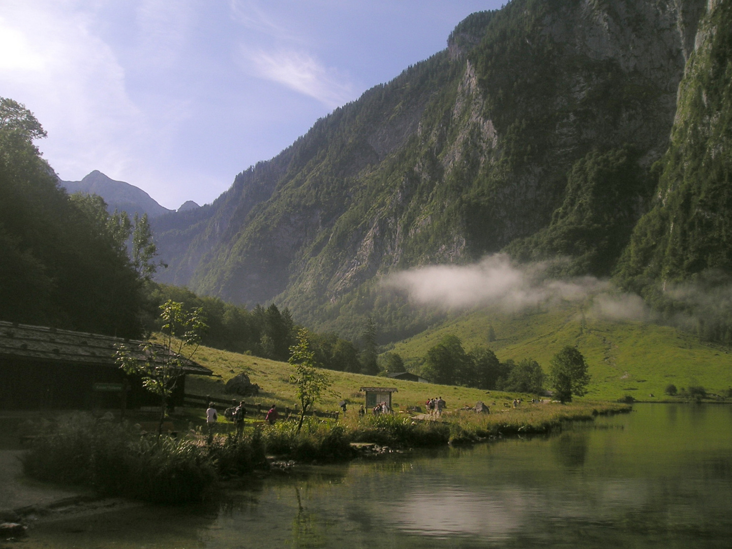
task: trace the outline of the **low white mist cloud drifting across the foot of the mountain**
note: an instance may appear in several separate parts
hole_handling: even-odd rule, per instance
[[[608,280],[589,276],[559,280],[548,275],[549,265],[520,265],[508,255],[496,254],[472,265],[409,269],[391,275],[385,285],[406,291],[417,305],[447,309],[498,306],[518,311],[561,300],[582,302],[592,298],[591,314],[615,320],[649,318],[649,309],[640,297],[617,291]]]

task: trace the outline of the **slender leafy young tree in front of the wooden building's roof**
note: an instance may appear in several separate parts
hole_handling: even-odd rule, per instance
[[[124,344],[117,348],[116,362],[124,373],[140,376],[145,389],[160,397],[160,425],[157,434],[163,433],[168,397],[173,393],[176,382],[184,373],[186,362],[193,358],[201,344],[206,329],[201,309],[185,313],[183,304],[168,300],[160,305],[163,320],[163,343],[155,345],[148,341],[143,345],[144,359],[133,356],[132,350]]]

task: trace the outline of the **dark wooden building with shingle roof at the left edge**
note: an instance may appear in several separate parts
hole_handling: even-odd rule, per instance
[[[160,397],[116,364],[122,344],[146,359],[142,341],[0,321],[0,409],[159,407]],[[190,360],[183,373],[170,406],[183,405],[185,375],[212,375]]]

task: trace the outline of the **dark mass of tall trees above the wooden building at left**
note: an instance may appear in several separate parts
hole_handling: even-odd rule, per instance
[[[22,105],[0,99],[0,119],[0,318],[137,337],[145,301],[125,218],[97,198],[69,198]]]

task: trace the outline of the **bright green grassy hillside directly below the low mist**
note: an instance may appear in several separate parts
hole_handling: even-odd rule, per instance
[[[493,342],[488,341],[490,326],[496,335]],[[456,315],[397,343],[392,351],[414,365],[448,334],[460,337],[466,350],[488,346],[501,361],[533,358],[545,372],[553,354],[565,345],[577,345],[592,376],[587,395],[591,399],[632,395],[636,400],[668,400],[668,384],[679,389],[701,385],[720,395],[732,386],[729,348],[700,343],[694,335],[669,326],[604,320],[568,303],[523,313],[480,310]]]

